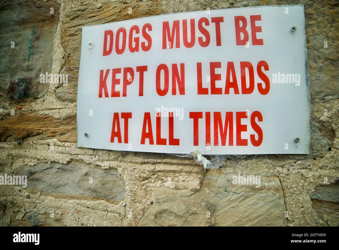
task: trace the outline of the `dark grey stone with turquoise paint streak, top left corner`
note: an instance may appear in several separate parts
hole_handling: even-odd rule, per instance
[[[54,1],[0,2],[0,86],[14,100],[41,97],[48,91],[40,74],[52,71],[59,9]]]

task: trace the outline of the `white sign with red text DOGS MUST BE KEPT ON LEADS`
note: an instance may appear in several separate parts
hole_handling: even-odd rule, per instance
[[[304,27],[302,5],[83,27],[78,147],[309,153]]]

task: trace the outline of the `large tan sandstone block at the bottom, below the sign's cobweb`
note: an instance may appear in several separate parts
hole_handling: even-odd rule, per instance
[[[138,226],[287,226],[277,177],[262,178],[256,188],[233,185],[226,172],[208,171],[196,192],[158,188]]]

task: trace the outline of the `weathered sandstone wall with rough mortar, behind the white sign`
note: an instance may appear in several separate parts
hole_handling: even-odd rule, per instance
[[[192,158],[77,148],[82,26],[282,4],[305,8],[311,154],[229,157],[204,170]],[[338,226],[338,7],[331,0],[0,1],[0,175],[28,178],[26,188],[0,186],[0,225]],[[46,71],[67,73],[68,84],[39,83]],[[260,175],[261,187],[232,185],[238,173]]]

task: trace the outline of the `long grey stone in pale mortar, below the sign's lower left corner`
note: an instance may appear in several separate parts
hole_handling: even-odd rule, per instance
[[[62,199],[107,200],[114,204],[125,198],[125,182],[113,168],[94,168],[80,162],[53,162],[51,165],[21,166],[14,173],[27,175],[26,191],[31,193],[41,192]]]

